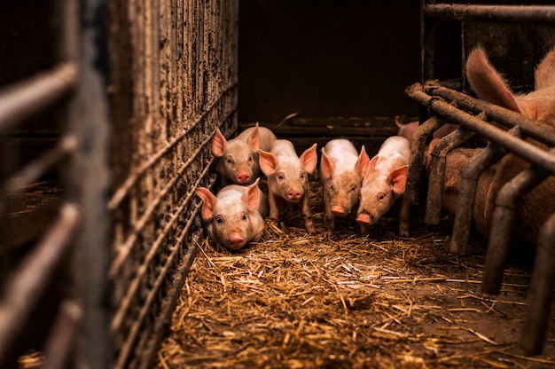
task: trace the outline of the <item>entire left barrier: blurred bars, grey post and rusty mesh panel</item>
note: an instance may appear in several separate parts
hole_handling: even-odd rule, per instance
[[[36,27],[52,24],[59,51],[45,72],[1,87],[0,206],[7,214],[17,195],[46,184],[56,216],[42,211],[47,227],[26,216],[23,240],[0,229],[14,239],[2,248],[13,263],[3,259],[0,366],[36,349],[45,367],[148,367],[202,232],[194,190],[215,181],[209,143],[238,127],[238,1],[0,9],[7,18],[25,5]],[[37,112],[59,124],[44,133]],[[20,165],[25,135],[53,144]]]

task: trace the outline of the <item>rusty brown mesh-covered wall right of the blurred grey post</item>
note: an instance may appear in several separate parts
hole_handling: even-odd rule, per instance
[[[200,235],[210,142],[237,130],[238,2],[111,2],[113,361],[139,367]]]

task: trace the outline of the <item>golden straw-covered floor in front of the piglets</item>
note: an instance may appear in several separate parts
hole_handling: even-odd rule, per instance
[[[322,231],[320,188],[313,179]],[[518,347],[529,263],[510,261],[501,294],[482,296],[484,246],[449,255],[443,223],[416,215],[408,239],[391,218],[368,238],[341,223],[327,239],[298,218],[267,222],[262,241],[237,253],[205,239],[156,367],[553,367],[552,328],[543,355]]]

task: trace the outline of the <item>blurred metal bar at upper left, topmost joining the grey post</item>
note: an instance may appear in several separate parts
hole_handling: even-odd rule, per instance
[[[60,64],[0,91],[0,133],[58,101],[77,82],[77,66]]]

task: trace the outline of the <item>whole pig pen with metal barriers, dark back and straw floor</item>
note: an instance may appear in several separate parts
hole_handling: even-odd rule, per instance
[[[0,5],[0,367],[552,367],[551,218],[507,252],[505,233],[440,211],[444,154],[428,185],[418,150],[448,118],[463,130],[440,148],[472,131],[465,145],[554,173],[488,121],[548,147],[552,127],[473,98],[464,69],[481,44],[532,90],[554,19],[408,0]],[[395,212],[367,237],[348,219],[325,237],[315,173],[317,233],[293,216],[238,252],[207,239],[195,189],[219,188],[216,129],[260,122],[299,153],[348,137],[373,155],[396,114],[421,123],[410,237]]]

